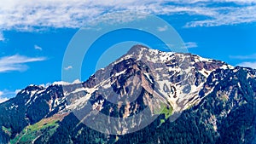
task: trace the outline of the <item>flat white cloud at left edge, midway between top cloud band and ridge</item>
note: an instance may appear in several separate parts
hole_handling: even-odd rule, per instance
[[[11,55],[0,58],[0,72],[26,71],[26,63],[46,60],[44,57],[26,57],[23,55]]]

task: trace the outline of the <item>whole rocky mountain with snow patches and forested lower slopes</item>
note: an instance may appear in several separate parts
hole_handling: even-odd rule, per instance
[[[256,143],[256,70],[143,45],[0,104],[0,143]]]

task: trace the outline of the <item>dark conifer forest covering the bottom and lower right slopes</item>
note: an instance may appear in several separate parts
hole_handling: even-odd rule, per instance
[[[230,78],[232,77],[232,78]],[[104,135],[91,130],[70,114],[60,123],[49,141],[43,138],[37,143],[161,143],[161,144],[252,144],[256,135],[255,92],[256,81],[247,80],[242,69],[227,74],[215,85],[212,93],[200,104],[184,111],[174,122],[160,124],[160,115],[143,130],[127,135]],[[221,78],[220,78],[221,79]],[[240,84],[238,84],[240,83]],[[228,100],[218,92],[230,92]],[[226,113],[226,115],[223,115]],[[215,122],[213,122],[215,119]],[[118,137],[118,138],[117,138]]]

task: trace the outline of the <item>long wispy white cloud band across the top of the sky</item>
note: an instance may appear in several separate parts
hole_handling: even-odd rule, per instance
[[[231,3],[231,4],[229,4]],[[187,27],[221,26],[256,21],[256,2],[253,0],[148,0],[148,1],[88,1],[88,0],[9,0],[0,3],[0,27],[3,31],[39,31],[45,27],[79,28],[97,17],[111,12],[129,10],[149,14],[202,15],[201,20],[184,21]],[[129,15],[127,15],[129,16]],[[134,15],[130,15],[134,16]],[[123,19],[115,17],[114,19]],[[127,17],[129,20],[129,18]]]

